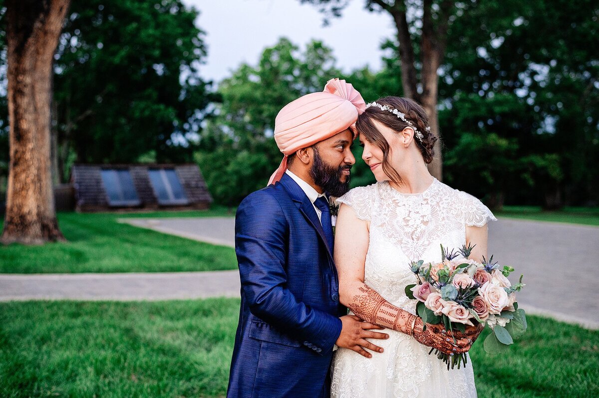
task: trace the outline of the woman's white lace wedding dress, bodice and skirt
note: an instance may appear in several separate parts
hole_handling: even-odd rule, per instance
[[[416,282],[410,262],[440,262],[440,245],[450,250],[465,244],[466,226],[496,220],[480,200],[434,180],[425,192],[404,194],[387,181],[358,187],[341,196],[361,220],[370,221],[365,284],[392,304],[416,313],[406,285]],[[332,362],[331,397],[476,397],[470,358],[461,369],[447,370],[429,347],[411,336],[384,330],[385,349],[368,359],[340,348]]]

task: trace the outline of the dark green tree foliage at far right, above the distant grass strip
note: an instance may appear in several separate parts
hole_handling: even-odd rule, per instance
[[[453,23],[440,83],[448,181],[486,181],[478,188],[490,197],[546,208],[599,200],[598,17],[591,1],[509,0],[474,2]],[[486,161],[509,161],[506,177],[491,183],[481,164],[465,178],[483,150],[465,144],[491,133],[515,145]]]

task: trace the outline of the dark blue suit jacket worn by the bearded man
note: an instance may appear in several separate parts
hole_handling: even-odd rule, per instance
[[[241,309],[227,397],[327,397],[346,310],[319,218],[289,175],[241,202],[235,251]]]

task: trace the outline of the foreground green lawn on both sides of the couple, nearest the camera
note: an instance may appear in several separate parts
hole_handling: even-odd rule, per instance
[[[238,305],[0,303],[0,396],[223,396]],[[504,356],[485,354],[484,336],[474,345],[479,397],[599,396],[599,331],[528,321]]]

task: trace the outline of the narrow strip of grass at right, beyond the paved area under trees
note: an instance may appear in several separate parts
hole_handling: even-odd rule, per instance
[[[567,207],[562,210],[544,211],[536,206],[504,206],[503,210],[495,212],[495,215],[506,218],[599,226],[599,207]]]

